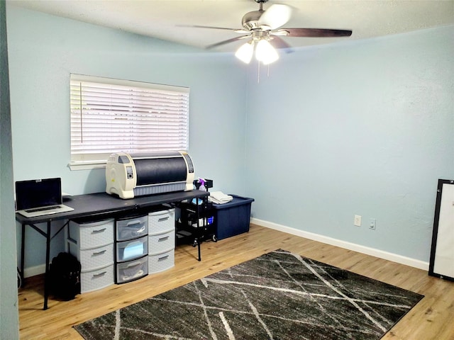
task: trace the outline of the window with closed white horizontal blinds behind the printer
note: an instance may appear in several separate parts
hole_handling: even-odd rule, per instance
[[[71,74],[71,169],[112,152],[187,151],[189,89]]]

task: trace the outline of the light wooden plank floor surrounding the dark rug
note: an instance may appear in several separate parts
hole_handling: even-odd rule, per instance
[[[48,310],[42,310],[42,276],[30,278],[18,295],[21,339],[82,339],[74,324],[279,248],[425,295],[382,339],[454,339],[454,283],[420,269],[255,225],[246,234],[202,244],[201,262],[196,260],[196,248],[178,246],[175,267],[168,271],[77,295],[68,302],[51,297]]]

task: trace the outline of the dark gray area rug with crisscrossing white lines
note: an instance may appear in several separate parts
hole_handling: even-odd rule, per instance
[[[74,328],[87,340],[371,340],[422,298],[279,249]]]

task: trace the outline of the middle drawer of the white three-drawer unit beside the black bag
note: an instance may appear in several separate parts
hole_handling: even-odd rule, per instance
[[[79,250],[77,246],[68,242],[70,254],[77,257],[82,264],[84,271],[91,271],[94,268],[107,266],[114,263],[114,245],[107,244],[98,248]]]

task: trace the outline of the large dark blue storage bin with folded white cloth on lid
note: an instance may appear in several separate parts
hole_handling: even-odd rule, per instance
[[[213,224],[217,239],[226,239],[249,231],[250,206],[254,199],[231,196],[233,200],[228,203],[213,204]]]

